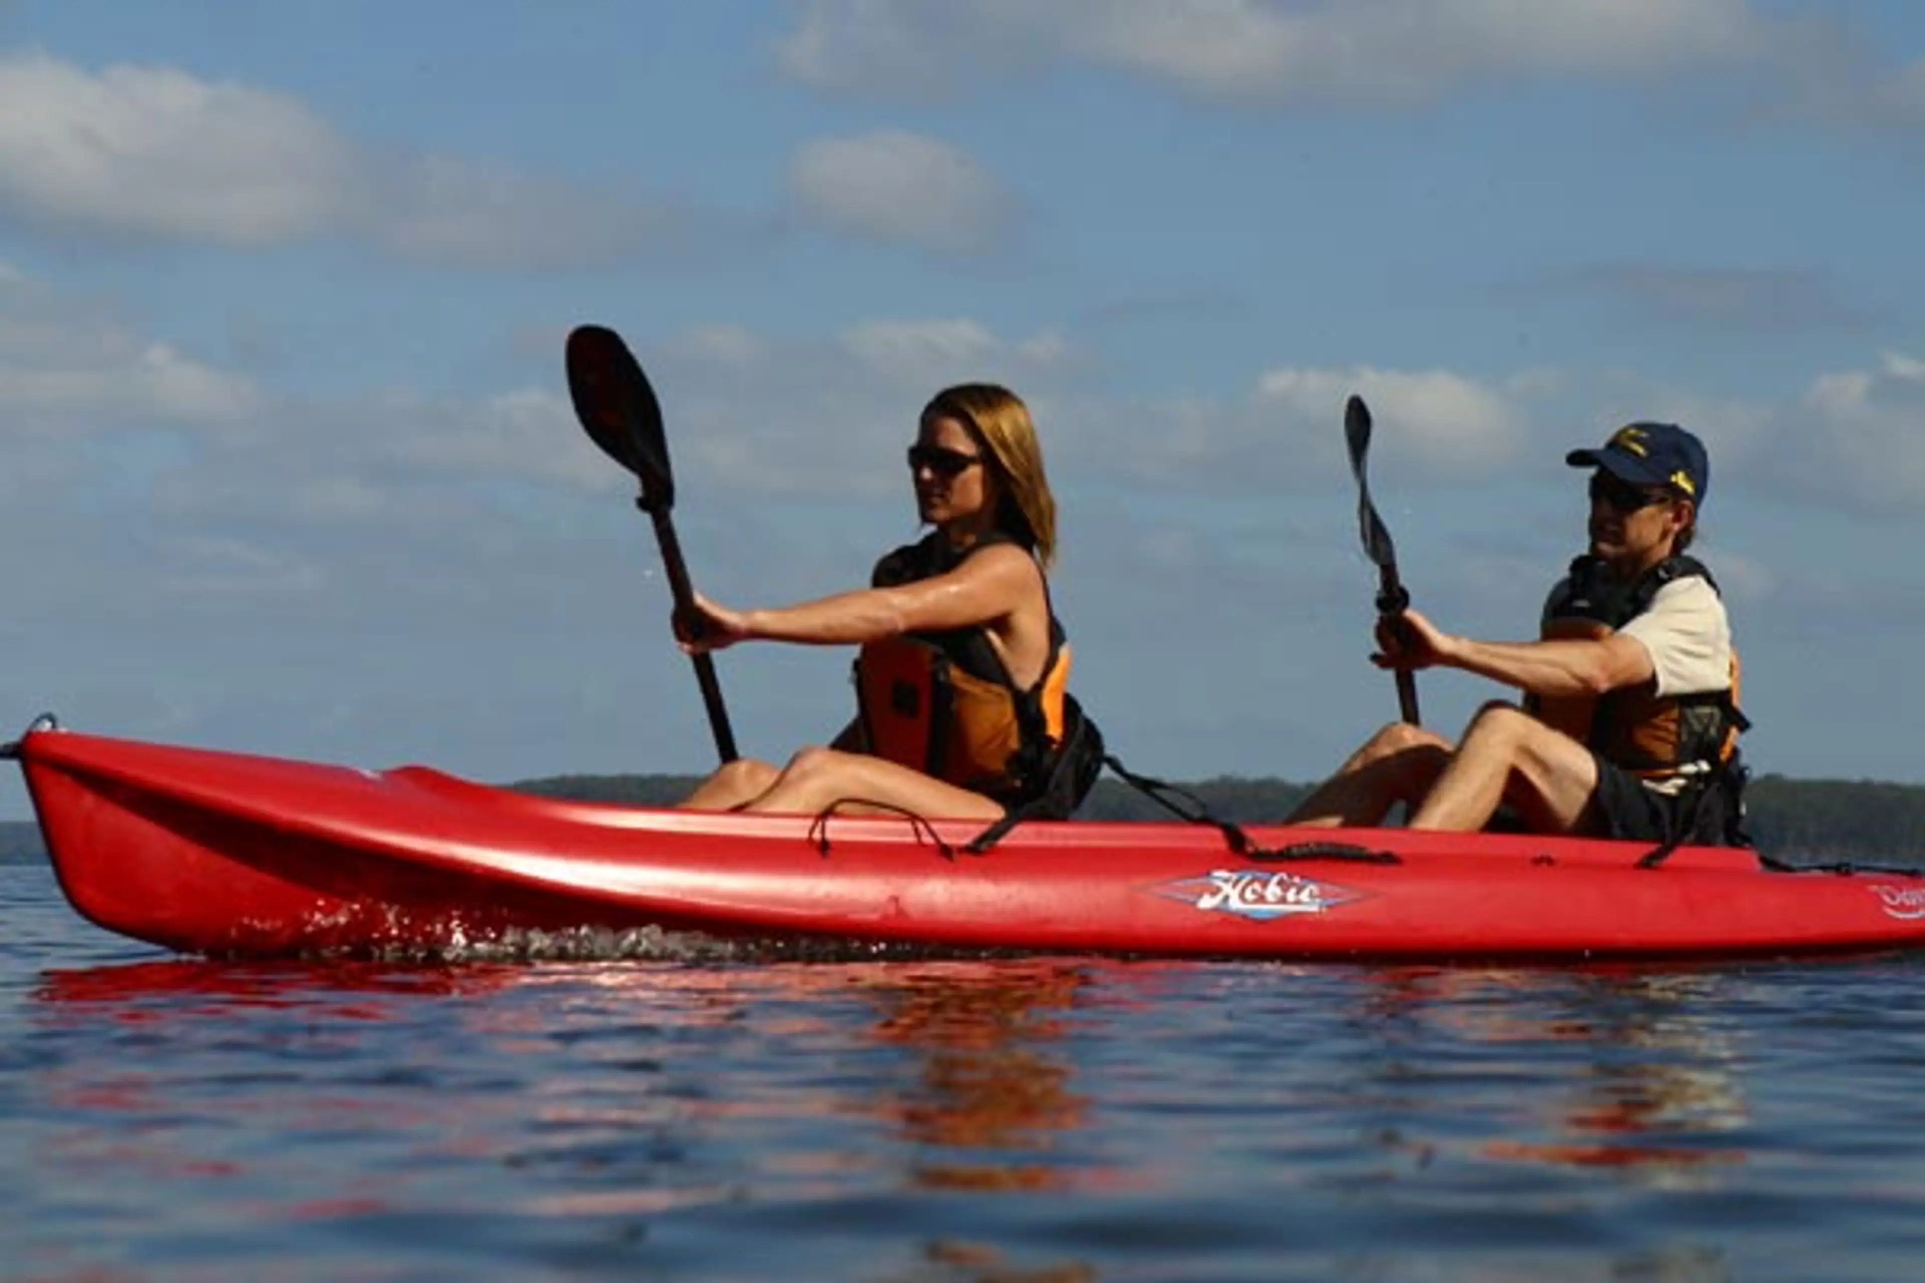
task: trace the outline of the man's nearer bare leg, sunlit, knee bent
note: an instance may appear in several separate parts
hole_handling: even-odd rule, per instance
[[[1588,819],[1596,791],[1588,748],[1521,708],[1484,704],[1411,827],[1471,833],[1509,802],[1532,831],[1571,833]]]

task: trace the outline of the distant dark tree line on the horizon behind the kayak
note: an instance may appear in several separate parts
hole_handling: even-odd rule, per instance
[[[516,785],[524,792],[581,802],[666,806],[689,792],[695,775],[551,775]],[[1309,785],[1224,775],[1180,785],[1211,814],[1236,823],[1274,821]],[[1748,829],[1758,850],[1790,862],[1925,862],[1925,785],[1761,775],[1746,791]],[[1101,779],[1080,819],[1168,819],[1153,800],[1116,779]],[[0,860],[44,858],[33,823],[0,823]]]

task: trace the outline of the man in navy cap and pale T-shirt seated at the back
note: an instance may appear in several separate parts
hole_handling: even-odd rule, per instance
[[[1709,485],[1704,444],[1675,423],[1630,423],[1592,467],[1590,552],[1552,589],[1542,641],[1453,637],[1405,610],[1378,621],[1378,667],[1459,667],[1525,692],[1492,702],[1451,744],[1378,731],[1292,814],[1376,825],[1396,802],[1413,829],[1482,829],[1507,806],[1536,833],[1742,844],[1738,664],[1717,585],[1684,556]]]

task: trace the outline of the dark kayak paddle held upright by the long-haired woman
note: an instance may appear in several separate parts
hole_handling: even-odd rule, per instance
[[[635,506],[654,523],[654,542],[662,548],[662,566],[668,571],[668,592],[676,612],[693,614],[695,587],[689,583],[689,566],[681,560],[681,541],[676,539],[676,523],[670,517],[676,506],[676,477],[668,467],[662,404],[654,400],[649,375],[641,373],[641,364],[618,333],[603,325],[578,325],[568,335],[568,396],[576,402],[576,417],[581,419],[589,439],[641,483]],[[733,762],[739,756],[735,733],[728,725],[728,708],[722,706],[714,660],[706,654],[693,660],[716,752],[724,762]]]

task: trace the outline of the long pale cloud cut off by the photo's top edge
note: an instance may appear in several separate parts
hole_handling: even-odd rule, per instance
[[[778,62],[828,90],[961,87],[1055,56],[1215,98],[1409,104],[1742,63],[1781,40],[1746,0],[816,0]]]

